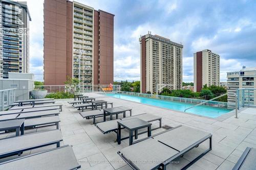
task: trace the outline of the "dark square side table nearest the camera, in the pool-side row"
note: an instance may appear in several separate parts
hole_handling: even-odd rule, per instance
[[[151,136],[151,123],[148,123],[139,118],[131,118],[127,120],[120,120],[117,122],[117,143],[121,143],[121,126],[129,130],[129,145],[133,144],[133,131],[135,132],[135,139],[138,139],[138,130],[142,128],[147,128],[147,136]]]

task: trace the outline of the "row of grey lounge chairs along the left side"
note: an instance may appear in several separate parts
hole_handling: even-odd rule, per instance
[[[18,157],[0,163],[0,169],[78,169],[76,157],[70,145],[60,147],[62,141],[59,130],[59,111],[61,104],[55,104],[53,99],[42,100],[39,104],[36,101],[23,101],[28,105],[12,105],[8,111],[0,112],[1,127],[12,127],[15,120],[24,121],[20,127],[22,131],[15,137],[0,139],[0,159],[13,155],[21,155],[25,151],[34,150],[48,145],[56,145],[56,148],[47,151]],[[18,102],[17,102],[18,103]],[[49,104],[52,103],[52,104]],[[20,104],[20,103],[18,103]],[[56,126],[56,130],[29,133],[24,135],[24,129],[34,127]],[[3,130],[3,129],[1,129]],[[6,131],[7,132],[7,131]]]

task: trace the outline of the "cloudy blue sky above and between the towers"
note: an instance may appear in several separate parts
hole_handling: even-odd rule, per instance
[[[182,43],[183,81],[193,82],[193,54],[209,49],[220,55],[220,79],[227,71],[256,66],[256,1],[77,0],[115,14],[114,81],[140,80],[139,37],[151,31]],[[27,0],[30,72],[43,81],[43,3]]]

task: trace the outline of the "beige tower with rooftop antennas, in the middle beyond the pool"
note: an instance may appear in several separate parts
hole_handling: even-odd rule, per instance
[[[157,86],[182,88],[183,45],[158,35],[141,36],[140,41],[140,83],[142,93],[156,92]]]

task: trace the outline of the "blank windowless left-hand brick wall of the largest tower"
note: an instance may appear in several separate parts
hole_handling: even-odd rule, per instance
[[[45,85],[62,85],[66,81],[67,1],[44,3],[44,81]]]

